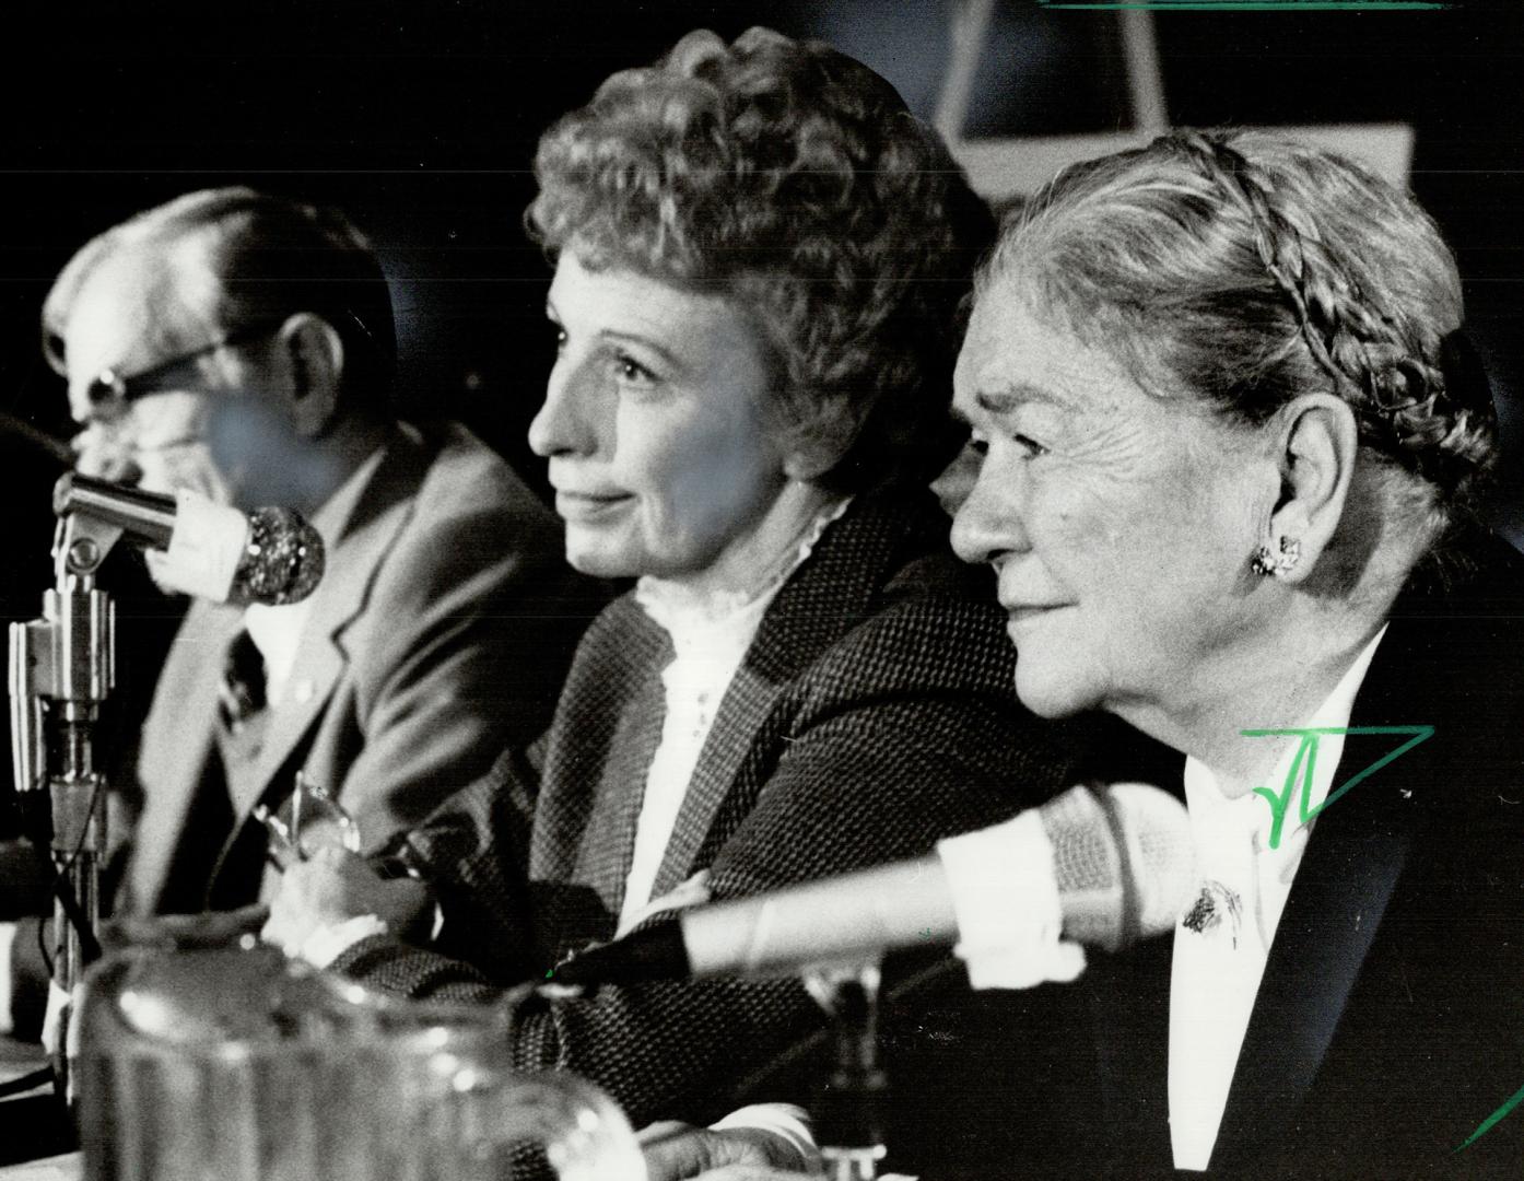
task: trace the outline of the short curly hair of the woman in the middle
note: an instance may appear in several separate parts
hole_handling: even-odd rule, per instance
[[[814,41],[684,37],[552,126],[530,235],[718,293],[777,366],[777,424],[841,489],[951,454],[959,309],[994,218],[895,88]]]

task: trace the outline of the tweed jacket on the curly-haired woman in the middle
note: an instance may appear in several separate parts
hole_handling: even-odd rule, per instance
[[[654,896],[706,867],[718,899],[920,855],[1070,780],[1074,730],[1017,703],[989,573],[946,538],[931,497],[905,489],[860,495],[828,529],[725,693]],[[437,946],[459,960],[381,936],[335,968],[413,997],[492,1000],[494,983],[544,978],[613,937],[671,654],[632,597],[616,600],[550,731],[411,835],[445,913]],[[514,1055],[596,1080],[637,1126],[707,1122],[818,1023],[791,980],[605,986],[523,1003]]]

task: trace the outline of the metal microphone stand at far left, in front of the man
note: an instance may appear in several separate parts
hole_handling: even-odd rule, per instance
[[[11,759],[23,812],[52,817],[53,984],[66,997],[99,955],[99,861],[107,846],[105,780],[94,767],[93,735],[116,680],[116,608],[96,588],[96,571],[122,527],[70,512],[53,536],[52,590],[43,617],[11,625]],[[69,1102],[69,1009],[53,1047],[55,1091]]]

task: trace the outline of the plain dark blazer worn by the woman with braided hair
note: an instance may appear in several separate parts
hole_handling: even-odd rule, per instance
[[[1524,1088],[1524,562],[1478,550],[1462,579],[1407,590],[1376,649],[1350,725],[1434,738],[1317,818],[1212,1176],[1524,1169],[1524,1109],[1455,1152]],[[1335,785],[1402,741],[1350,736]],[[1170,955],[1166,937],[1091,954],[1071,986],[981,994],[952,1038],[1000,1030],[998,1051],[910,1047],[895,1077],[922,1109],[902,1112],[899,1161],[928,1178],[1172,1175]],[[942,1013],[922,1004],[922,1027]]]

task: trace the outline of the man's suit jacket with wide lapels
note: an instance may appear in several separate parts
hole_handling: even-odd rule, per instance
[[[221,856],[200,847],[197,802],[216,773],[218,686],[242,611],[190,607],[143,725],[140,814],[116,824],[130,837],[119,910],[218,904],[229,866],[247,876],[235,846],[262,847],[250,809],[277,806],[297,770],[338,797],[367,847],[418,823],[544,728],[602,596],[565,567],[555,515],[486,445],[442,425],[392,434],[309,602],[287,701],[227,768]]]

